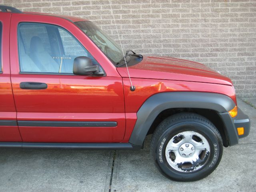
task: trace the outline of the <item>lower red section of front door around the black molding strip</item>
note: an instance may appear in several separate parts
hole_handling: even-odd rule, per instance
[[[26,142],[120,142],[125,131],[124,113],[18,113],[19,120],[116,121],[116,127],[23,127]],[[39,137],[40,135],[40,137]]]

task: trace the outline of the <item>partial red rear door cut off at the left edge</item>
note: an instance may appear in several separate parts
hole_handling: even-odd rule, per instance
[[[0,142],[20,142],[10,79],[10,13],[0,13]]]

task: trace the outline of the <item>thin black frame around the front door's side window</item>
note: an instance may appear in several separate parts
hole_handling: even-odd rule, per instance
[[[19,74],[32,74],[32,75],[69,75],[69,76],[77,76],[75,75],[74,73],[55,73],[55,72],[22,72],[20,70],[20,49],[19,49],[19,42],[20,42],[20,37],[19,37],[19,34],[20,34],[20,25],[21,24],[40,24],[40,25],[49,25],[49,26],[55,26],[57,28],[61,28],[62,30],[66,31],[68,34],[70,34],[70,36],[72,36],[74,38],[74,40],[76,40],[76,42],[78,42],[78,44],[84,48],[88,53],[90,53],[82,44],[81,42],[72,34],[70,33],[67,29],[63,28],[62,26],[58,26],[56,24],[49,24],[49,23],[42,23],[42,22],[19,22],[18,23],[18,26],[17,26],[17,46],[18,46],[18,61],[19,61]],[[47,34],[48,34],[48,31],[47,31]],[[60,36],[60,34],[59,34]],[[61,43],[62,43],[62,40],[61,40]],[[63,47],[63,44],[62,44],[62,48],[64,49]],[[91,54],[91,53],[90,53]],[[92,56],[92,54],[91,54]],[[92,56],[94,58],[94,56]],[[96,58],[94,58],[96,60]],[[97,60],[96,60],[97,61]],[[100,77],[104,77],[106,76],[106,72],[105,70],[102,68],[102,66],[100,65],[100,63],[97,61],[97,63],[99,64],[99,67],[100,67],[100,70],[102,70],[102,72],[104,73],[104,75],[100,76]],[[1,70],[1,69],[0,69]],[[1,71],[0,71],[1,73]],[[92,75],[89,75],[89,76],[93,76]]]

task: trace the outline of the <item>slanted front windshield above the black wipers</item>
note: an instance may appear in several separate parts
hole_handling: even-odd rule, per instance
[[[122,48],[114,40],[108,37],[93,22],[82,21],[75,24],[104,52],[104,54],[117,64],[124,57]]]

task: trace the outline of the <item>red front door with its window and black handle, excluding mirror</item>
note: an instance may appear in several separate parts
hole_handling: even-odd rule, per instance
[[[121,142],[125,132],[122,78],[72,22],[13,14],[11,80],[24,142]],[[104,76],[77,76],[87,56]]]

